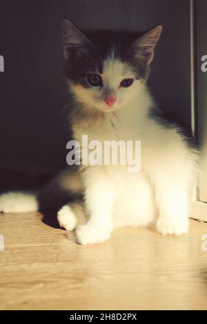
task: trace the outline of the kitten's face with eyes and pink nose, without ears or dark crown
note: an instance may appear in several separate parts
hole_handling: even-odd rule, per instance
[[[103,61],[101,71],[84,73],[79,83],[71,80],[70,88],[88,108],[112,112],[135,96],[140,83],[130,65],[110,56]]]

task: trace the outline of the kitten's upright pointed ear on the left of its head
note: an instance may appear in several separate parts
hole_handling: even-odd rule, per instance
[[[62,34],[66,60],[68,60],[71,50],[80,50],[81,46],[87,43],[91,45],[89,39],[67,18],[64,18],[62,22]]]

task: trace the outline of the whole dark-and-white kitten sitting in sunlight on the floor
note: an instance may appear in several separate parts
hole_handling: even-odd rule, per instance
[[[76,229],[80,244],[101,243],[115,227],[150,226],[161,234],[188,232],[188,207],[197,176],[197,150],[181,128],[165,123],[146,81],[161,26],[136,32],[81,32],[63,20],[66,78],[72,95],[74,139],[101,143],[140,140],[141,170],[128,165],[81,165],[55,179],[57,187],[81,203],[58,212],[59,224]],[[69,201],[69,198],[68,198]],[[38,209],[35,195],[0,197],[3,212]]]

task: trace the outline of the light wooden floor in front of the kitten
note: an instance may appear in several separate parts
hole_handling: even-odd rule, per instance
[[[207,224],[161,236],[123,228],[102,245],[41,222],[1,214],[1,310],[207,310]]]

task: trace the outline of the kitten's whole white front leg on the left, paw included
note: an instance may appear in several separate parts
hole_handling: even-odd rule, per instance
[[[77,242],[83,245],[109,239],[115,201],[115,188],[107,174],[100,168],[88,168],[86,172],[86,207],[90,219],[86,225],[77,227]]]

